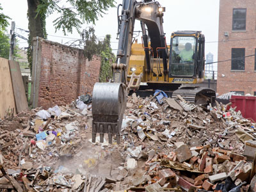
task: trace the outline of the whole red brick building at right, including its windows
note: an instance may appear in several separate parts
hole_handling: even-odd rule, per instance
[[[256,1],[220,0],[217,93],[256,93]],[[225,61],[230,60],[230,61]]]

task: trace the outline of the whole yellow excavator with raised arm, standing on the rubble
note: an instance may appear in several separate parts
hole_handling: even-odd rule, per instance
[[[117,10],[119,40],[117,60],[112,64],[113,79],[93,87],[93,143],[97,133],[101,143],[104,134],[108,134],[109,143],[113,142],[113,135],[116,143],[120,143],[127,94],[134,90],[163,90],[173,98],[182,97],[196,105],[216,99],[214,90],[195,86],[204,81],[205,38],[201,31],[176,31],[169,47],[163,31],[165,8],[159,2],[123,0]],[[134,39],[136,20],[140,20],[142,44]]]

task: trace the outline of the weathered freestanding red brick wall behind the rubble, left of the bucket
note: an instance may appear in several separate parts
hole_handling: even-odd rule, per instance
[[[92,61],[88,61],[84,58],[83,49],[44,39],[40,39],[39,44],[37,106],[49,108],[55,104],[70,104],[79,95],[92,93],[93,85],[99,81],[99,56],[93,56]]]

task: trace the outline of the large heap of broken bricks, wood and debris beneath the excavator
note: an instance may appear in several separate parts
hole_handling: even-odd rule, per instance
[[[255,122],[229,104],[161,102],[128,97],[120,145],[92,143],[81,100],[1,120],[1,191],[256,191]]]

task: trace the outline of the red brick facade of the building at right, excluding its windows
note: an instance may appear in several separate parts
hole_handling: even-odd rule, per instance
[[[246,8],[246,31],[232,31],[233,8]],[[232,48],[245,48],[245,56],[255,54],[256,48],[256,1],[220,0],[218,61],[230,60]],[[228,37],[224,32],[228,32]],[[239,39],[254,38],[251,40]],[[227,40],[230,40],[229,42]],[[244,71],[232,71],[231,61],[218,63],[217,92],[256,92],[255,57],[245,58]]]

